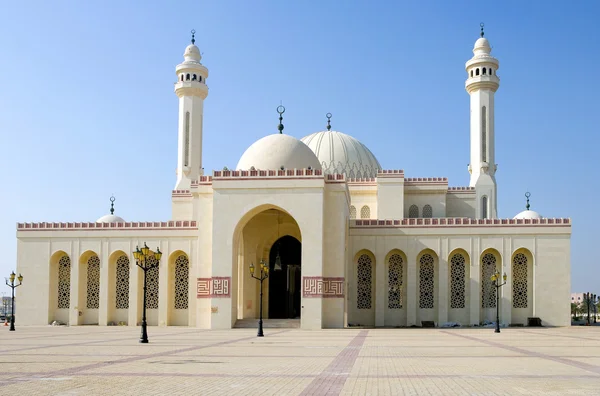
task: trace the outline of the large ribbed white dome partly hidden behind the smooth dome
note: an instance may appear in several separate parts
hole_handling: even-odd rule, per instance
[[[325,173],[343,173],[349,178],[377,177],[381,165],[364,144],[336,131],[321,131],[302,138],[317,155]]]

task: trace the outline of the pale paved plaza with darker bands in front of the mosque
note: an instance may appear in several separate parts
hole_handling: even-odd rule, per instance
[[[598,395],[600,328],[0,328],[2,395]]]

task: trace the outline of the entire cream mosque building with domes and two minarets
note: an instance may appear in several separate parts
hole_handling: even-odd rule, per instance
[[[204,175],[208,69],[192,43],[175,71],[179,98],[172,220],[18,223],[18,322],[136,326],[143,272],[133,251],[163,255],[148,271],[149,325],[228,329],[259,315],[302,329],[351,326],[570,324],[571,221],[529,210],[497,216],[494,94],[499,62],[486,38],[466,63],[470,182],[383,169],[338,131],[265,136],[236,170]],[[515,93],[516,94],[516,93]],[[284,109],[279,108],[280,113]],[[211,133],[211,131],[207,131]],[[502,135],[500,135],[502,136]],[[465,142],[467,144],[467,142]],[[491,276],[506,274],[496,289]],[[496,295],[499,290],[499,296]]]

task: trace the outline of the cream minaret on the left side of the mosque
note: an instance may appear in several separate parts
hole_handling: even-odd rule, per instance
[[[192,30],[192,43],[183,53],[183,63],[175,68],[175,93],[179,98],[176,190],[188,190],[191,181],[202,174],[202,118],[208,95],[208,69],[200,63],[202,56],[195,45],[195,33]]]

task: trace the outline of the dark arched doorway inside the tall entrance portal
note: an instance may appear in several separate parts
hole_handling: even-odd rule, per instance
[[[275,268],[277,254],[281,269]],[[269,319],[300,317],[302,245],[291,236],[279,238],[269,254]]]

